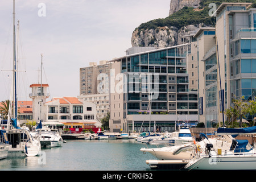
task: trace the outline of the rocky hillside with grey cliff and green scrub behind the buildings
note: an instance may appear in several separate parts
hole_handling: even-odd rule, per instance
[[[212,2],[171,0],[170,15],[167,18],[154,19],[135,28],[131,37],[132,46],[155,48],[176,46],[183,43],[182,36],[193,34],[201,27],[214,26],[216,20],[209,16],[209,4]],[[217,7],[222,2],[237,2],[237,0],[214,1]],[[240,2],[248,2],[248,0],[240,0]]]

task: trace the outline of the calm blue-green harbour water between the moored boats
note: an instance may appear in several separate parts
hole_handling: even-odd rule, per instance
[[[129,140],[67,140],[63,146],[42,148],[42,156],[0,160],[0,170],[16,171],[147,171],[151,154]]]

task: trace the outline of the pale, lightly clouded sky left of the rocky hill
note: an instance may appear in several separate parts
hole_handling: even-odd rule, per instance
[[[170,0],[15,0],[18,100],[31,100],[42,60],[49,99],[79,96],[80,68],[125,56],[135,28],[169,10]],[[13,1],[0,1],[0,17],[1,102],[12,89]]]

